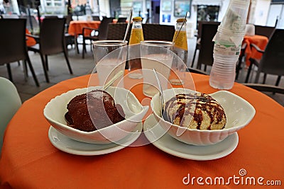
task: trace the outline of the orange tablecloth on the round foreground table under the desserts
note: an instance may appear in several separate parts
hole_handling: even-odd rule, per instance
[[[209,86],[209,76],[192,74],[192,77],[197,91],[217,91]],[[256,108],[256,115],[238,132],[238,147],[222,159],[181,159],[160,151],[153,144],[126,147],[101,156],[77,156],[56,149],[48,139],[50,125],[43,116],[43,108],[61,93],[87,87],[88,80],[89,76],[80,76],[62,81],[23,103],[4,137],[0,188],[202,188],[197,184],[198,177],[204,178],[199,182],[208,188],[248,188],[245,179],[252,177],[263,184],[281,181],[282,186],[278,188],[283,187],[284,108],[263,93],[241,84],[235,84],[230,91],[249,101]],[[133,81],[125,81],[125,87]],[[139,101],[146,98],[141,93],[141,85],[131,91]],[[246,176],[240,175],[242,168]],[[194,185],[182,183],[188,175],[190,179],[195,177]],[[230,177],[231,180],[229,185],[219,185],[218,180],[217,184],[207,185],[207,177],[223,177],[226,183]],[[266,188],[255,181],[254,188]]]

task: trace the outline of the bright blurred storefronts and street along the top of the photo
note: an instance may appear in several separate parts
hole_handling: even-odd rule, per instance
[[[72,16],[85,20],[86,15],[127,17],[141,16],[144,23],[175,25],[188,11],[188,37],[197,32],[198,21],[222,21],[230,0],[0,0],[1,14],[17,16]],[[284,27],[284,1],[251,0],[247,23]]]

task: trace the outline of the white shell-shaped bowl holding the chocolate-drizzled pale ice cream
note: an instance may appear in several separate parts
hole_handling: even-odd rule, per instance
[[[186,88],[170,88],[163,91],[165,102],[173,98],[179,93],[195,93]],[[153,115],[165,132],[168,132],[171,137],[178,139],[187,144],[204,146],[221,142],[230,134],[240,130],[251,122],[256,110],[253,106],[243,98],[229,91],[217,91],[209,94],[224,108],[226,114],[226,125],[223,130],[196,130],[186,127],[173,125],[160,117],[160,96],[159,93],[153,96],[151,100],[151,108]]]

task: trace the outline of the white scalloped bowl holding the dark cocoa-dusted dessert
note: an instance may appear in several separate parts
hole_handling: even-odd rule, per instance
[[[67,126],[65,113],[67,113],[67,104],[77,95],[87,93],[93,89],[102,89],[102,86],[92,88],[77,88],[60,96],[53,98],[43,110],[45,119],[48,120],[56,130],[65,134],[67,137],[80,142],[92,144],[109,144],[117,142],[132,132],[138,122],[141,122],[148,110],[148,106],[142,106],[136,96],[125,88],[109,87],[107,92],[114,98],[116,104],[120,104],[126,115],[126,120],[117,122],[109,127],[92,132],[84,132]]]

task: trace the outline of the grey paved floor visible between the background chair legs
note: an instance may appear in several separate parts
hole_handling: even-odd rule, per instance
[[[192,47],[192,49],[189,50],[188,62],[191,64],[192,55],[193,55],[193,51],[195,47],[195,39],[189,40],[189,42],[190,42],[189,47]],[[65,62],[63,54],[48,56],[49,58],[48,59],[48,62],[49,62],[48,75],[50,76],[49,84],[45,82],[45,76],[43,74],[43,67],[40,61],[40,56],[38,54],[30,52],[29,55],[31,58],[31,62],[33,64],[33,68],[35,69],[35,73],[38,76],[40,87],[35,86],[31,73],[29,73],[28,79],[25,80],[22,65],[19,66],[17,62],[12,63],[11,69],[12,69],[12,75],[13,75],[13,83],[16,85],[16,88],[18,89],[18,93],[21,96],[21,100],[26,101],[28,100],[28,98],[33,97],[35,94],[39,93],[40,91],[43,91],[45,88],[53,86],[54,84],[57,84],[58,82],[63,81],[65,79],[70,79],[76,76],[82,76],[84,74],[88,74],[92,72],[92,69],[94,69],[93,56],[92,56],[92,52],[89,49],[87,50],[88,52],[85,55],[85,58],[82,59],[82,54],[77,54],[75,49],[72,49],[71,47],[69,47],[68,55],[69,55],[72,70],[74,72],[74,74],[72,75],[69,73],[67,69],[67,64]],[[197,58],[198,58],[198,53],[197,53],[197,57],[195,58],[194,67],[196,66]],[[207,70],[208,73],[209,71],[210,69]],[[4,76],[8,78],[6,66],[0,66],[0,76]],[[246,76],[246,69],[242,69],[238,82],[244,82],[245,76]],[[276,76],[268,75],[266,84],[274,84],[275,81],[276,81]],[[284,77],[280,81],[280,86],[284,87]],[[278,103],[284,106],[284,95],[283,94],[273,95],[272,93],[268,93],[268,96],[271,96],[271,98],[275,99],[275,101],[278,101]]]

